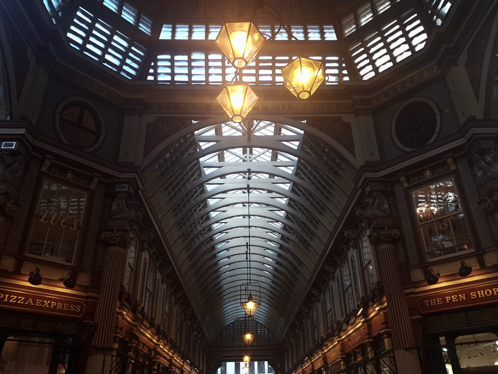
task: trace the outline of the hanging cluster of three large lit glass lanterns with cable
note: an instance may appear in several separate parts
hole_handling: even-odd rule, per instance
[[[255,1],[252,7],[253,15],[257,9],[262,9],[280,22],[275,34],[266,35],[265,38],[252,21],[229,22],[223,24],[216,38],[216,44],[236,69],[234,81],[224,84],[222,92],[217,97],[218,103],[234,122],[242,122],[261,98],[248,83],[242,81],[242,70],[256,57],[263,43],[274,39],[280,29],[283,28],[292,39],[297,40],[290,30],[282,25],[281,17],[275,15],[278,13],[271,5],[259,0]],[[307,99],[325,80],[325,71],[321,61],[299,56],[282,68],[282,76],[285,87],[295,97]]]

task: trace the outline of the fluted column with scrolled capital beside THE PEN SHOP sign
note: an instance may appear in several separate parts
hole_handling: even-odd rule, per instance
[[[370,243],[374,246],[379,265],[380,276],[384,284],[387,313],[391,329],[392,349],[396,357],[398,373],[420,374],[420,363],[414,343],[408,305],[399,274],[395,242],[400,232],[397,228],[372,229]]]

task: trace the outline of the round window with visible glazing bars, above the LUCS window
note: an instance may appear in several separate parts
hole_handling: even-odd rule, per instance
[[[55,114],[57,132],[72,146],[93,151],[104,139],[104,120],[99,110],[83,98],[64,100]]]

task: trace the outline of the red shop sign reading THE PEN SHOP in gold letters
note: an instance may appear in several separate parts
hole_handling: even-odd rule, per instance
[[[465,287],[453,291],[439,292],[417,298],[422,313],[463,308],[498,301],[498,283]]]

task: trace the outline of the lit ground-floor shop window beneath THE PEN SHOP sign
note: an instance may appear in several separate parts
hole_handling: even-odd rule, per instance
[[[498,365],[498,336],[493,333],[460,335],[455,344],[448,344],[440,337],[441,354],[448,374],[496,373]],[[450,350],[455,349],[458,362],[450,359]],[[455,357],[455,356],[453,356]]]

